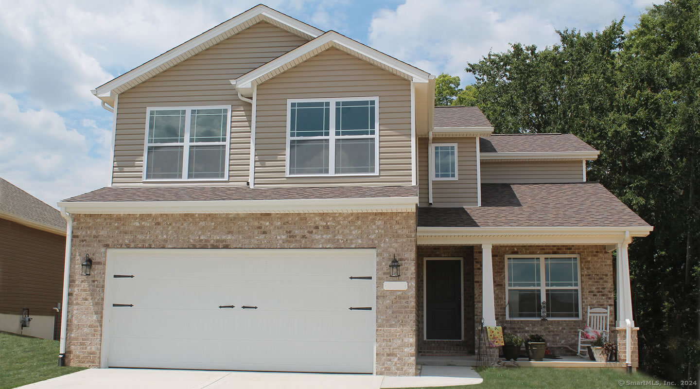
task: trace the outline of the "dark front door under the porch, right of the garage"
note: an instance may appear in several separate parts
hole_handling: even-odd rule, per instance
[[[426,339],[462,339],[461,260],[426,260]]]

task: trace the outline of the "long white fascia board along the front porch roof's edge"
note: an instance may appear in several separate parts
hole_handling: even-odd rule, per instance
[[[647,236],[654,227],[418,227],[420,244],[611,244]]]

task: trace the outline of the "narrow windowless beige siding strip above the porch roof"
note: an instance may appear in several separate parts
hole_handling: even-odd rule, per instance
[[[482,183],[580,183],[583,164],[575,161],[482,161]]]

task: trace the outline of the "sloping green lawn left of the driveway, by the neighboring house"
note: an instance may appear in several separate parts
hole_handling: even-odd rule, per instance
[[[83,370],[58,367],[58,341],[0,332],[0,389]]]

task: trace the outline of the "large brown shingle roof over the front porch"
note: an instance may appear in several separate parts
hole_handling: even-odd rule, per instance
[[[646,227],[603,185],[483,184],[480,207],[418,208],[419,227]]]

